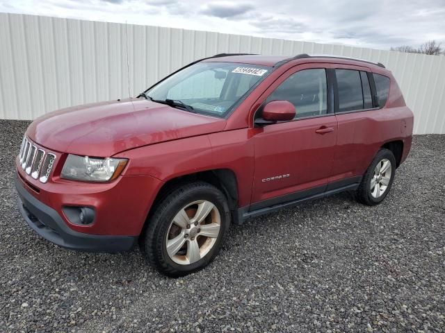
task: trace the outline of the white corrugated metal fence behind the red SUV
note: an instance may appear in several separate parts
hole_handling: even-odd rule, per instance
[[[0,119],[35,119],[128,96],[127,42],[132,95],[216,53],[325,53],[382,62],[415,114],[414,132],[445,133],[445,56],[6,13],[0,13]]]

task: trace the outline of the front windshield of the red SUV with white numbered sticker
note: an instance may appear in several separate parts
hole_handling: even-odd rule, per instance
[[[269,71],[270,67],[259,65],[197,62],[145,94],[154,101],[175,101],[176,107],[224,117]]]

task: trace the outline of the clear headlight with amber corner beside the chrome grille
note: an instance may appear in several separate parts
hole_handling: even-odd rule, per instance
[[[92,158],[68,155],[61,178],[87,182],[106,182],[118,178],[128,160],[124,158]]]

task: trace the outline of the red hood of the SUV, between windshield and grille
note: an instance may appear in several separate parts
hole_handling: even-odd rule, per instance
[[[26,131],[61,153],[109,157],[131,148],[219,132],[225,119],[140,99],[80,105],[45,114]]]

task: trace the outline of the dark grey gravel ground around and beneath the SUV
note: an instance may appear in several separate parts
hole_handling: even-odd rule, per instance
[[[339,194],[251,219],[203,271],[76,253],[15,207],[28,123],[0,121],[0,332],[445,332],[445,135],[414,138],[382,205]]]

